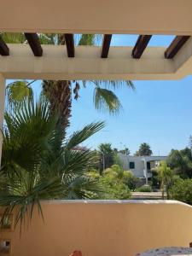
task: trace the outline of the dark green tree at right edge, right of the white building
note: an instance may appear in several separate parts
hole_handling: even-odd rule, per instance
[[[166,163],[180,177],[192,177],[192,154],[190,148],[184,148],[183,150],[172,149]]]

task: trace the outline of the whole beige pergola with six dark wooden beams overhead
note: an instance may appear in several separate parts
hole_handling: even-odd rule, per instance
[[[23,32],[28,44],[5,44],[0,38],[1,123],[4,79],[182,79],[192,74],[191,9],[191,0],[3,1],[0,32]],[[66,45],[41,45],[40,32],[63,33]],[[102,34],[102,47],[75,47],[74,33]],[[110,47],[113,34],[137,34],[137,43]],[[156,34],[175,38],[168,48],[148,47]]]

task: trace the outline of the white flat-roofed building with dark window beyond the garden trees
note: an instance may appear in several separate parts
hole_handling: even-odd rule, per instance
[[[119,154],[123,162],[124,170],[130,170],[136,177],[144,178],[148,183],[148,177],[152,177],[151,169],[159,166],[161,160],[166,160],[166,156],[135,156]]]

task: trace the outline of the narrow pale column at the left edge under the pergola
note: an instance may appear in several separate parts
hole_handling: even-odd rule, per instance
[[[3,78],[3,75],[0,73],[0,129],[3,128],[4,103],[5,103],[5,79]],[[0,131],[0,165],[1,165],[1,159],[2,159],[2,144],[3,144],[3,137],[2,137],[2,132]]]

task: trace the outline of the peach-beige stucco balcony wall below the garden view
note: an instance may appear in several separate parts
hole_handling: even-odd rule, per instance
[[[13,256],[131,256],[151,247],[189,246],[192,207],[177,201],[52,201],[43,203],[44,223],[34,215],[12,239]]]

